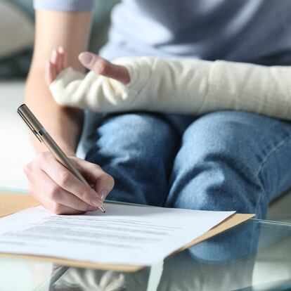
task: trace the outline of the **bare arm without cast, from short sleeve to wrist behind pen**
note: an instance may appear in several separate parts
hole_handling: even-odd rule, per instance
[[[84,70],[77,56],[89,42],[91,12],[37,11],[34,54],[25,90],[25,103],[65,153],[75,153],[82,131],[82,110],[64,108],[52,98],[45,83],[45,63],[53,49],[67,50],[67,63],[75,70]],[[32,138],[37,151],[46,150]]]

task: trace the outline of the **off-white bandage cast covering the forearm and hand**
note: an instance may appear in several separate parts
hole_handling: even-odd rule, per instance
[[[291,67],[224,60],[117,59],[131,81],[87,75],[67,68],[50,86],[60,105],[96,112],[148,110],[202,115],[243,110],[291,119]]]

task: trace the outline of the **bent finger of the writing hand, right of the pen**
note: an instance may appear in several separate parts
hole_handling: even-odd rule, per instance
[[[96,186],[96,192],[100,195],[101,200],[105,200],[112,188],[114,179],[105,173],[97,164],[84,160],[77,160],[77,167],[89,183]]]

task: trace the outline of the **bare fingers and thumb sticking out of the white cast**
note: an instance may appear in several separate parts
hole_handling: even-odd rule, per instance
[[[115,65],[108,60],[96,56],[93,53],[84,52],[79,54],[79,61],[87,69],[95,72],[97,75],[103,75],[111,79],[115,79],[126,85],[130,82],[129,72],[127,68],[122,65]],[[58,74],[67,68],[67,57],[65,49],[60,46],[54,49],[51,53],[50,60],[46,61],[45,80],[46,84],[50,86]]]

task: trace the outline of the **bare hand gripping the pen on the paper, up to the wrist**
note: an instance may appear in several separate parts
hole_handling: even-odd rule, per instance
[[[41,152],[25,165],[24,172],[32,196],[55,214],[95,211],[114,186],[114,179],[97,164],[69,157],[93,190],[60,164],[50,152]]]

